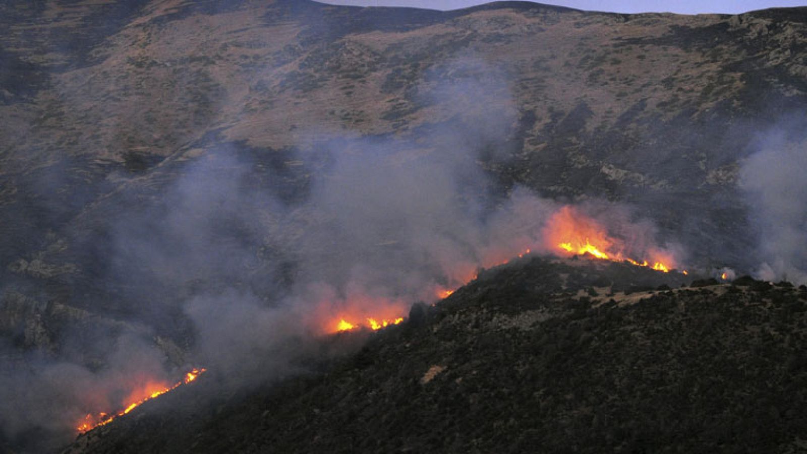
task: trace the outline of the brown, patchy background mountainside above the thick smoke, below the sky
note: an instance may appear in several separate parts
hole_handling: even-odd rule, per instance
[[[448,129],[488,150],[503,190],[631,202],[692,263],[749,266],[739,165],[768,128],[803,131],[788,115],[805,101],[803,9],[2,7],[3,280],[82,309],[142,300],[105,276],[115,228],[215,152],[272,169],[294,202],[318,172],[299,152],[393,135],[439,153]]]

